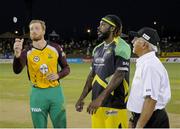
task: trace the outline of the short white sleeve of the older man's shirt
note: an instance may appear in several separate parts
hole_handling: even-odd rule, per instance
[[[160,88],[160,75],[154,67],[148,66],[143,69],[142,84],[143,97],[150,96],[152,99],[157,100]]]

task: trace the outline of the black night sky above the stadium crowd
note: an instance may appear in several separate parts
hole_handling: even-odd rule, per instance
[[[0,33],[15,29],[22,33],[23,28],[28,32],[30,20],[41,19],[47,33],[55,30],[62,38],[83,35],[88,28],[96,34],[100,19],[116,14],[124,33],[149,26],[161,36],[180,35],[179,0],[2,0],[0,12]]]

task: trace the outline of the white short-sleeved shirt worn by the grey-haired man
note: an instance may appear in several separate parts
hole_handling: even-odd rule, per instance
[[[171,98],[168,73],[155,52],[137,59],[127,109],[141,113],[146,96],[157,101],[155,110],[165,108]]]

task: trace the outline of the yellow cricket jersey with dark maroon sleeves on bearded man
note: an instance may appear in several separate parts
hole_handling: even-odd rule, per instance
[[[25,64],[29,80],[33,86],[39,88],[59,85],[59,80],[47,80],[46,76],[49,73],[58,73],[59,79],[69,73],[69,66],[62,48],[53,43],[47,44],[43,49],[31,47],[22,51],[20,58],[14,58],[14,72],[20,73]]]

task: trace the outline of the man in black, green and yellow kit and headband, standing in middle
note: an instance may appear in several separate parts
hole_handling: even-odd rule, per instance
[[[100,21],[98,38],[102,43],[93,50],[92,70],[75,107],[81,112],[84,99],[92,90],[87,112],[92,128],[127,128],[130,46],[120,37],[122,23],[116,15]]]

